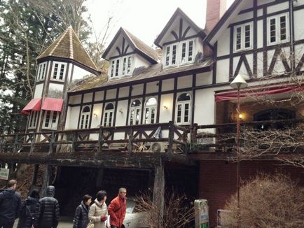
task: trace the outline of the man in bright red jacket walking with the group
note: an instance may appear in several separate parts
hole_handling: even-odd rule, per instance
[[[110,215],[111,228],[122,228],[123,220],[125,219],[127,190],[125,187],[120,187],[118,196],[114,198],[108,208]]]

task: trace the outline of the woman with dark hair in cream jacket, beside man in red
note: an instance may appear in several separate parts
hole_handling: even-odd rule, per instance
[[[106,192],[99,191],[96,194],[94,204],[90,206],[89,219],[94,222],[94,228],[106,228],[108,210],[106,208]]]

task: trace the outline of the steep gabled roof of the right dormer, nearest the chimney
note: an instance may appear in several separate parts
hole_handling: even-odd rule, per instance
[[[156,40],[154,41],[154,44],[157,45],[160,48],[163,48],[162,45],[160,44],[161,39],[165,36],[165,34],[167,33],[167,31],[170,29],[170,27],[172,26],[172,24],[174,23],[174,21],[177,19],[177,17],[180,16],[181,18],[183,18],[184,20],[186,20],[186,22],[188,22],[188,24],[191,25],[191,27],[197,32],[197,34],[204,39],[206,34],[204,29],[198,27],[197,24],[195,24],[193,22],[193,20],[190,19],[190,17],[188,17],[186,15],[186,13],[183,12],[183,10],[181,10],[180,8],[177,8],[177,10],[175,10],[174,14],[172,15],[172,17],[170,18],[169,22],[167,22],[167,24],[165,25],[163,31],[160,32],[160,34],[158,35],[158,37],[156,38]]]

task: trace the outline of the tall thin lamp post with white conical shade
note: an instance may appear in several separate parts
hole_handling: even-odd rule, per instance
[[[240,74],[230,83],[230,87],[237,89],[237,227],[240,227],[240,89],[247,86],[246,80]]]

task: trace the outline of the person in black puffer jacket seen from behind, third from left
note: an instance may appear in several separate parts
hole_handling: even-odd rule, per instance
[[[56,228],[59,222],[59,203],[54,198],[55,187],[46,188],[46,197],[39,199],[36,214],[34,215],[34,227]]]

